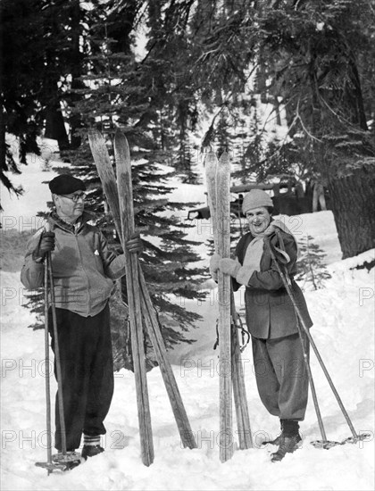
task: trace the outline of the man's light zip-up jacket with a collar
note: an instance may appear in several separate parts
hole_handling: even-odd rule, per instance
[[[75,229],[52,213],[47,221],[55,234],[52,252],[55,305],[83,317],[101,312],[112,293],[114,280],[125,274],[125,256],[109,250],[104,235],[87,221],[84,212]],[[28,289],[44,284],[44,264],[33,259],[43,229],[29,239],[21,270],[21,282]]]

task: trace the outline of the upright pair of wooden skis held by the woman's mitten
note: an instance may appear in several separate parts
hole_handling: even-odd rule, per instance
[[[214,152],[205,159],[207,190],[213,225],[215,253],[230,257],[230,162],[224,152],[218,161]],[[228,461],[234,452],[232,390],[234,395],[239,448],[253,447],[246,387],[238,341],[237,313],[231,279],[219,271],[219,374],[220,374],[220,459]]]

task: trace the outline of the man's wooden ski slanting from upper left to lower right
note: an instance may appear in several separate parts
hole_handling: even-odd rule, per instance
[[[112,163],[107,148],[105,146],[104,137],[102,137],[99,131],[93,129],[90,130],[88,138],[91,146],[91,151],[96,162],[96,168],[102,181],[104,193],[112,211],[114,224],[116,226],[119,237],[122,237],[121,213],[119,195],[116,186],[116,178],[112,170]],[[118,142],[122,138],[124,138],[123,141],[126,140],[126,137],[121,134],[121,138],[118,137]],[[125,145],[127,146],[127,142],[125,143]],[[179,387],[177,386],[173,371],[171,370],[171,364],[167,358],[167,350],[162,339],[159,321],[157,320],[154,306],[151,302],[151,298],[146,287],[146,281],[143,275],[143,271],[139,263],[137,263],[137,267],[138,280],[141,291],[141,308],[146,323],[146,329],[154,346],[156,360],[159,364],[162,373],[162,379],[164,381],[164,385],[166,387],[167,394],[171,402],[171,408],[179,429],[181,442],[185,447],[196,448],[196,441],[191,430],[190,423],[187,419],[187,413],[182,402],[181,395],[179,394]]]

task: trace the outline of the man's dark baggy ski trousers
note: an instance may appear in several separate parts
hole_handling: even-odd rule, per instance
[[[104,418],[113,395],[113,362],[108,304],[93,317],[56,308],[57,333],[63,379],[63,410],[68,451],[79,448],[82,432],[105,434]],[[54,351],[51,311],[49,326]],[[54,362],[56,375],[56,362]],[[54,446],[62,450],[58,394],[55,401]]]

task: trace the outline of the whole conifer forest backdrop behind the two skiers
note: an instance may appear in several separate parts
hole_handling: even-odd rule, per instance
[[[86,181],[87,209],[120,250],[87,129],[104,132],[110,151],[123,129],[140,260],[167,345],[198,318],[169,295],[203,298],[207,272],[195,266],[182,204],[163,196],[171,176],[199,184],[195,162],[208,146],[229,149],[233,183],[322,184],[343,258],[374,247],[373,0],[3,0],[0,9],[2,183],[20,195],[10,171],[40,154],[40,137],[56,140],[62,171]],[[112,302],[117,325],[125,307]],[[40,309],[40,295],[30,305]]]

